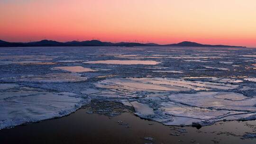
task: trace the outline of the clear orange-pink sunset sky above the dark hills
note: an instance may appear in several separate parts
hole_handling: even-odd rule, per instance
[[[0,39],[256,47],[256,0],[0,0]]]

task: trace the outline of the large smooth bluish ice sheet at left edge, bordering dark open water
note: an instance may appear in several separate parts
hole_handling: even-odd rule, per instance
[[[0,94],[0,129],[63,117],[90,101],[68,92],[38,89],[9,90]]]

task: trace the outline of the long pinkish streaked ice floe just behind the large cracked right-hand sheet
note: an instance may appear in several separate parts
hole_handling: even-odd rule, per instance
[[[103,80],[95,84],[98,87],[131,91],[190,91],[190,90],[231,90],[239,85],[208,81],[185,81],[165,78],[127,78]]]

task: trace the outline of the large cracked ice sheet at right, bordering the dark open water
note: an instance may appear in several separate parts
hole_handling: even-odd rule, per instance
[[[248,98],[233,92],[172,94],[161,99],[163,100],[148,99],[144,101],[145,104],[134,101],[131,103],[139,117],[165,125],[205,126],[222,120],[256,117],[256,98]]]

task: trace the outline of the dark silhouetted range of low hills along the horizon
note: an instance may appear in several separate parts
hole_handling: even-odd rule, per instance
[[[12,43],[0,40],[0,47],[28,47],[28,46],[183,46],[183,47],[244,47],[244,46],[231,46],[231,45],[204,45],[195,42],[184,41],[178,44],[168,44],[168,45],[159,45],[155,43],[111,43],[111,42],[101,42],[99,40],[90,40],[90,41],[71,41],[71,42],[57,42],[52,40],[41,40],[38,42],[29,42],[29,43]]]

